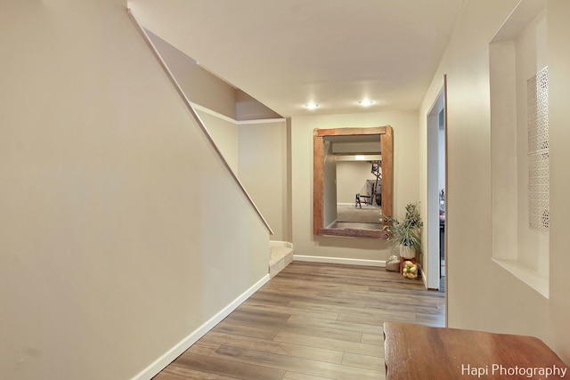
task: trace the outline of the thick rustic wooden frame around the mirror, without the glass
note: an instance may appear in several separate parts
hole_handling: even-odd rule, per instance
[[[350,228],[337,227],[332,218],[336,218],[336,208],[330,212],[332,207],[336,207],[336,168],[331,168],[328,164],[331,160],[336,162],[335,154],[331,150],[331,141],[348,141],[354,138],[355,141],[378,141],[379,167],[381,170],[381,205],[378,210],[378,217],[392,216],[393,190],[394,190],[394,138],[390,125],[371,128],[333,128],[315,129],[313,136],[313,231],[315,235],[343,236],[353,238],[375,238],[386,239],[387,233],[380,228]],[[335,140],[336,139],[336,140]],[[335,164],[336,165],[336,164]],[[374,170],[374,168],[372,168]],[[330,179],[334,177],[334,179]],[[334,184],[331,184],[333,183]],[[356,195],[357,190],[354,192]],[[367,197],[368,198],[368,197]],[[356,206],[356,204],[354,205]],[[333,216],[331,217],[330,214]],[[326,215],[326,217],[325,217]],[[326,222],[325,222],[326,219]]]

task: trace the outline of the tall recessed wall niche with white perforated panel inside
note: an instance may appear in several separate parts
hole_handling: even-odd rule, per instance
[[[523,0],[489,44],[493,261],[549,296],[546,3]]]

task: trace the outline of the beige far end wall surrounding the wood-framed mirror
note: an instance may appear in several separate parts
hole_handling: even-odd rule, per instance
[[[362,260],[387,260],[391,246],[385,240],[321,237],[313,235],[313,131],[314,128],[394,128],[394,210],[403,214],[408,202],[417,201],[418,113],[371,112],[291,119],[291,187],[293,246],[297,255]]]

